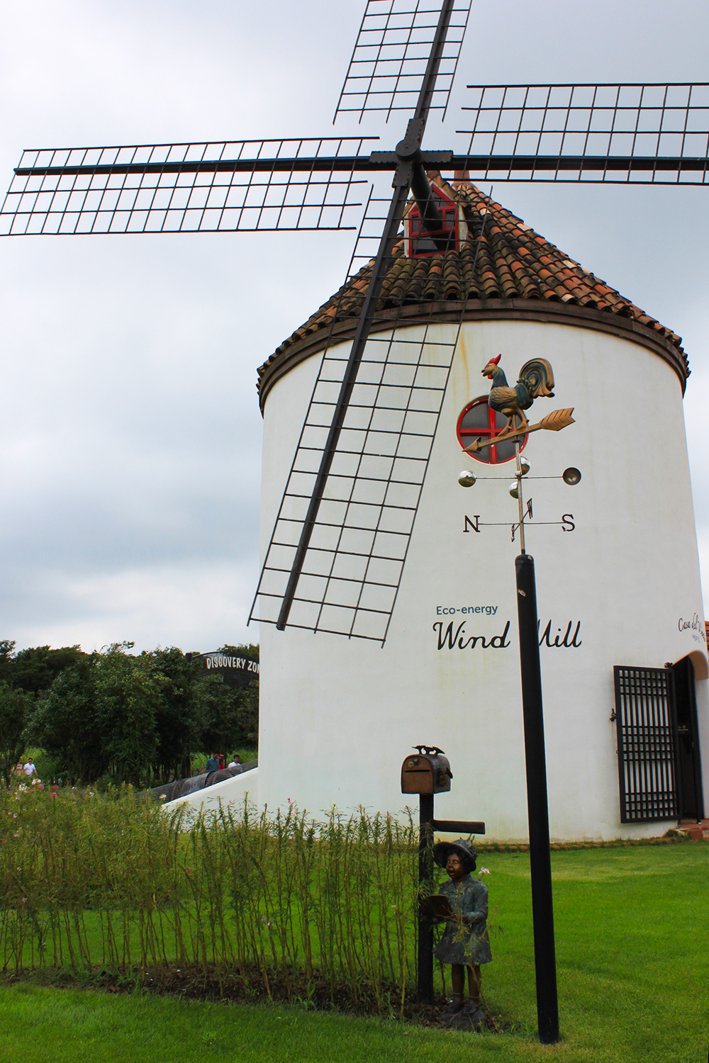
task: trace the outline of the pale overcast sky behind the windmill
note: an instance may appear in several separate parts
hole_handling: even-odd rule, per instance
[[[361,0],[2,7],[3,190],[24,148],[357,131],[332,116]],[[706,0],[474,0],[426,147],[459,146],[467,83],[709,81],[708,38]],[[404,122],[358,131],[389,149]],[[709,587],[709,188],[493,196],[683,337]],[[0,638],[202,651],[257,638],[255,370],[339,286],[351,246],[349,233],[0,240]]]

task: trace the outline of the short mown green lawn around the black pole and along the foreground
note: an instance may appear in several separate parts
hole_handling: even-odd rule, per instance
[[[537,1044],[529,860],[485,854],[493,963],[484,992],[503,1035],[19,984],[0,990],[3,1063],[87,1059],[705,1063],[709,1042],[709,845],[552,854],[562,1042]],[[494,914],[492,914],[494,913]],[[496,928],[502,928],[502,930]]]

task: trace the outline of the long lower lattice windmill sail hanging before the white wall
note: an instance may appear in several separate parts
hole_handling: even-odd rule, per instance
[[[365,253],[362,247],[374,239],[367,232],[368,226],[372,232],[377,229],[377,207],[386,209],[388,203],[384,199],[370,201],[348,282]],[[469,285],[475,275],[484,224]],[[289,627],[384,644],[460,335],[468,292],[465,294],[458,302],[453,332],[450,323],[434,320],[431,297],[421,300],[428,307],[427,320],[418,318],[415,324],[402,321],[402,304],[392,308],[385,331],[370,332],[288,617]],[[451,308],[452,301],[448,305]],[[410,306],[407,302],[406,307]],[[350,342],[333,334],[337,310],[249,622],[275,624],[278,619],[350,354]]]

